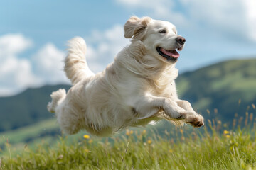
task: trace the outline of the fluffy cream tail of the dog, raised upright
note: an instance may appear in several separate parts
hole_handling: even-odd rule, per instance
[[[65,57],[64,70],[72,84],[94,75],[85,60],[85,52],[86,44],[82,38],[75,37],[68,42],[68,55]]]

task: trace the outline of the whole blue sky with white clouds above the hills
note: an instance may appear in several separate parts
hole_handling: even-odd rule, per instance
[[[130,16],[174,23],[186,38],[176,65],[180,73],[256,57],[255,0],[1,1],[0,96],[69,84],[63,59],[75,36],[87,43],[90,69],[101,72],[129,45],[123,26]]]

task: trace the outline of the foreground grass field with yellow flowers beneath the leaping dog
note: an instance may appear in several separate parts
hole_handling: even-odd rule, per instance
[[[24,145],[17,154],[3,139],[0,169],[256,169],[254,114],[233,120],[233,128],[206,120],[201,130],[184,126],[164,135],[149,128],[104,139],[80,133],[76,140]]]

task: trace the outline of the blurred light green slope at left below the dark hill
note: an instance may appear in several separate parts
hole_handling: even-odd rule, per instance
[[[8,140],[13,155],[20,154],[24,150],[24,146],[35,149],[40,143],[48,143],[48,145],[56,145],[58,136],[61,134],[56,119],[43,120],[40,123],[28,125],[17,130],[9,130],[0,133],[0,157],[8,154],[6,142]],[[82,136],[82,132],[77,135],[68,137],[68,141],[77,140]]]

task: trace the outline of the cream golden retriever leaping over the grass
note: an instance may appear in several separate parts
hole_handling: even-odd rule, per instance
[[[183,49],[185,38],[175,26],[132,16],[124,25],[124,37],[131,38],[131,44],[97,74],[85,61],[85,41],[70,40],[65,74],[73,86],[68,94],[64,89],[53,92],[48,103],[61,130],[74,134],[85,129],[104,136],[163,118],[201,127],[203,117],[176,94],[176,50]]]

